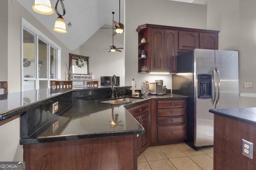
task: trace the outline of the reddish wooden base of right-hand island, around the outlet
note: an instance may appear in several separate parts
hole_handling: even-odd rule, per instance
[[[214,114],[214,170],[256,168],[256,149],[253,150],[253,159],[244,156],[242,139],[255,145],[256,126]]]

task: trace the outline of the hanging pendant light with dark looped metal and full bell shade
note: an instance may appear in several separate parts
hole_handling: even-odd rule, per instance
[[[60,15],[60,13],[58,12],[58,9],[57,9],[59,1],[60,1],[62,10],[63,10],[63,15]],[[65,13],[66,13],[66,10],[65,10],[65,7],[64,7],[64,4],[63,4],[62,0],[58,0],[56,2],[55,11],[56,11],[56,14],[58,15],[58,18],[56,19],[54,28],[52,30],[56,31],[58,33],[67,33],[68,31],[66,30],[65,20],[62,18],[62,16],[64,16]]]

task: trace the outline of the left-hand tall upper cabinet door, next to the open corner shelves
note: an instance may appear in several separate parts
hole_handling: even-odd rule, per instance
[[[164,64],[164,30],[152,29],[151,32],[151,71],[162,72]]]

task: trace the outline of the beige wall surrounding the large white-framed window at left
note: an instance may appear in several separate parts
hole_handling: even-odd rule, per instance
[[[11,92],[18,92],[21,90],[21,78],[20,78],[20,71],[21,71],[21,57],[20,57],[20,32],[21,32],[21,18],[24,18],[26,21],[28,21],[31,25],[36,27],[40,32],[42,32],[44,35],[46,35],[48,38],[50,38],[53,42],[55,42],[57,45],[61,47],[61,68],[62,68],[62,74],[61,74],[61,80],[67,80],[67,74],[66,74],[66,63],[69,63],[68,60],[68,53],[72,53],[68,50],[50,31],[48,31],[44,25],[42,25],[36,18],[34,18],[27,10],[23,8],[16,0],[6,1],[6,0],[0,0],[1,7],[2,4],[5,4],[8,2],[8,13],[4,13],[1,10],[1,14],[4,13],[5,16],[8,18],[8,34],[7,32],[1,31],[1,36],[8,35],[8,41],[5,41],[4,45],[0,48],[3,48],[1,53],[8,54],[8,55],[2,55],[3,60],[7,60],[8,62],[1,62],[0,68],[5,68],[7,71],[8,77],[8,91]],[[7,6],[5,7],[7,8]],[[1,22],[4,21],[6,25],[6,17],[1,15]],[[1,24],[1,30],[2,30],[2,24]],[[6,28],[5,28],[6,29]],[[8,42],[8,43],[6,43]],[[6,47],[6,48],[4,48]],[[7,48],[8,47],[8,48]],[[7,49],[7,50],[6,50]],[[74,53],[76,53],[78,50],[74,50]],[[2,78],[2,76],[1,76]],[[3,78],[4,79],[4,78]]]

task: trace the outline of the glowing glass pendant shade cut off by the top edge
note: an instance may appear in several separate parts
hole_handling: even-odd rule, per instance
[[[50,0],[35,0],[32,9],[39,14],[50,15],[54,13]]]

